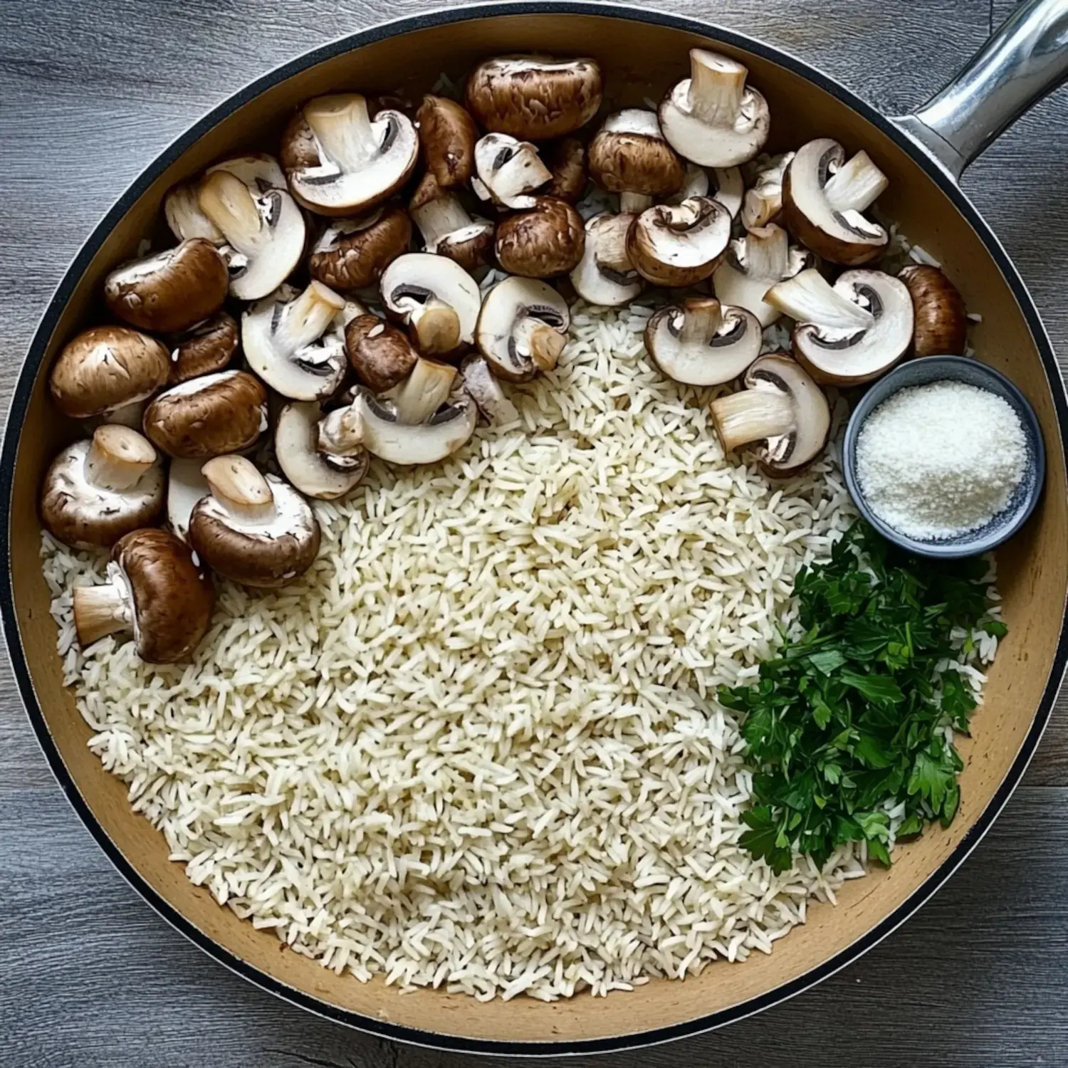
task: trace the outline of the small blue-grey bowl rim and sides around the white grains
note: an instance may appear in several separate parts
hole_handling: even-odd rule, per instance
[[[888,525],[865,501],[857,475],[857,439],[860,437],[861,427],[868,415],[898,390],[940,381],[965,382],[969,386],[977,386],[979,389],[987,390],[1007,400],[1023,424],[1023,433],[1027,439],[1027,466],[1008,505],[993,516],[989,522],[957,537],[921,541]],[[1034,409],[1017,387],[1000,371],[994,371],[993,367],[988,367],[985,363],[967,356],[928,356],[900,364],[889,375],[871,384],[861,398],[860,404],[857,405],[852,415],[849,417],[846,439],[842,446],[842,466],[846,476],[846,486],[849,488],[849,496],[852,497],[853,503],[861,515],[888,541],[892,541],[917,556],[955,560],[960,556],[977,556],[980,553],[989,552],[1010,538],[1027,521],[1027,517],[1035,511],[1046,481],[1046,446]]]

